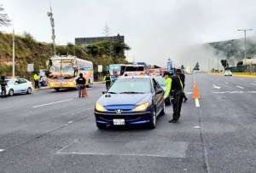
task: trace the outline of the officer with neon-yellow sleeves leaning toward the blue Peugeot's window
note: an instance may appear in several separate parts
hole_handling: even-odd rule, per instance
[[[183,83],[179,76],[175,75],[170,78],[169,73],[165,72],[164,77],[166,78],[166,94],[165,98],[171,94],[171,91],[173,92],[173,99],[172,99],[172,108],[173,108],[173,114],[172,114],[172,120],[169,121],[169,123],[177,123],[181,107],[183,103]]]

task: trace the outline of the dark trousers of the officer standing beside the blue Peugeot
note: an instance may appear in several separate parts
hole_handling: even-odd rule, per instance
[[[173,107],[173,119],[176,121],[180,117],[182,105],[183,105],[183,91],[181,90],[175,91],[172,99],[172,107]]]

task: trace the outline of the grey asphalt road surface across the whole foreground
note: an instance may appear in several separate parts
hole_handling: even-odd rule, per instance
[[[199,84],[200,107],[193,101]],[[155,130],[97,130],[90,96],[41,90],[0,99],[0,172],[255,172],[256,78],[187,76],[182,117]]]

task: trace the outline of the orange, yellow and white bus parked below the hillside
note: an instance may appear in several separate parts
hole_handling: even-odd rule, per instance
[[[76,56],[55,55],[49,60],[48,85],[50,89],[75,89],[79,73],[84,74],[86,86],[94,82],[93,64],[91,61],[79,59]]]

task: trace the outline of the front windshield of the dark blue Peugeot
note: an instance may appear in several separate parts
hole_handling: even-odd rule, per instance
[[[118,94],[151,93],[151,83],[148,78],[122,78],[117,80],[108,92]]]

